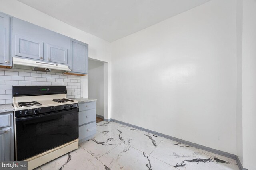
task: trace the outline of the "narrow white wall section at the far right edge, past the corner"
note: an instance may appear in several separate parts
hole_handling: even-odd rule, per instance
[[[243,163],[255,169],[256,153],[256,0],[243,1]]]

